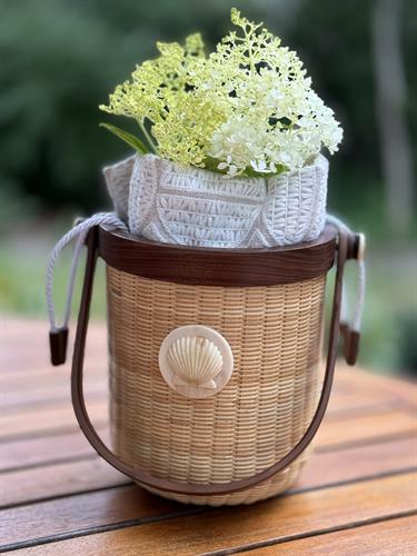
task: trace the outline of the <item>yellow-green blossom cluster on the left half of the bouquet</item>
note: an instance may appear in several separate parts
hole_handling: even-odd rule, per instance
[[[216,103],[198,93],[201,37],[189,36],[183,47],[177,42],[158,42],[157,47],[159,58],[137,67],[131,81],[118,86],[109,106],[101,105],[100,109],[133,118],[161,157],[203,167],[207,137],[224,117]]]

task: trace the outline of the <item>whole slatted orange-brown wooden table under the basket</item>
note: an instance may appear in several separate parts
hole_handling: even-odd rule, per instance
[[[317,450],[284,496],[252,506],[166,502],[100,460],[51,368],[47,326],[4,318],[1,546],[29,555],[417,554],[416,386],[341,364]],[[89,334],[90,413],[106,435],[106,340]]]

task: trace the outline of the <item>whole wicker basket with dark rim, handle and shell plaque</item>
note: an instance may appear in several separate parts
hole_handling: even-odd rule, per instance
[[[71,380],[93,448],[148,490],[183,503],[249,504],[288,488],[327,407],[344,265],[357,244],[331,226],[311,242],[257,249],[91,229]],[[107,264],[112,451],[88,417],[82,388],[98,256]],[[320,390],[326,275],[335,261]],[[355,338],[342,331],[353,363]]]

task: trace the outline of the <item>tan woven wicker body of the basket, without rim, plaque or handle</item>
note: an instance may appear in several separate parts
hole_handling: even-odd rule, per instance
[[[260,471],[301,438],[318,391],[326,277],[268,287],[187,286],[108,267],[110,421],[115,451],[182,483]],[[163,338],[201,324],[231,346],[235,368],[216,396],[188,399],[158,367]],[[249,504],[288,488],[308,454],[254,488],[225,496],[159,493],[185,503]]]

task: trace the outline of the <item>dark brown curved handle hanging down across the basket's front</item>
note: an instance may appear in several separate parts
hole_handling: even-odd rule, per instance
[[[97,250],[98,229],[92,228],[87,239],[88,254],[87,254],[86,274],[85,274],[82,298],[78,318],[77,336],[76,336],[75,353],[72,360],[72,373],[71,373],[71,393],[72,393],[73,409],[78,423],[81,427],[81,430],[86,435],[91,446],[110,465],[112,465],[116,469],[123,473],[125,475],[131,477],[137,483],[140,483],[147,487],[155,488],[158,490],[170,490],[173,493],[192,495],[192,496],[225,495],[235,493],[237,490],[242,490],[245,488],[252,487],[258,483],[271,478],[274,475],[288,467],[307,448],[307,446],[312,440],[314,436],[317,433],[318,427],[320,426],[320,423],[322,420],[329,400],[332,378],[335,373],[336,357],[337,357],[342,274],[344,274],[345,261],[349,257],[350,244],[351,244],[351,236],[349,236],[347,232],[341,231],[339,235],[339,242],[338,242],[337,272],[336,272],[336,282],[334,290],[334,305],[332,305],[331,320],[330,320],[330,335],[329,335],[325,380],[316,413],[302,438],[279,461],[275,463],[267,469],[252,475],[251,477],[247,477],[239,480],[232,480],[227,484],[199,485],[199,484],[176,483],[172,480],[153,477],[148,473],[145,473],[140,469],[136,469],[130,465],[126,464],[103,444],[103,441],[98,436],[88,416],[83,397],[82,369],[83,369],[83,358],[85,358],[85,347],[86,347],[86,335],[87,335],[89,310],[90,310],[91,290],[92,290],[93,275],[98,257],[98,250]]]

